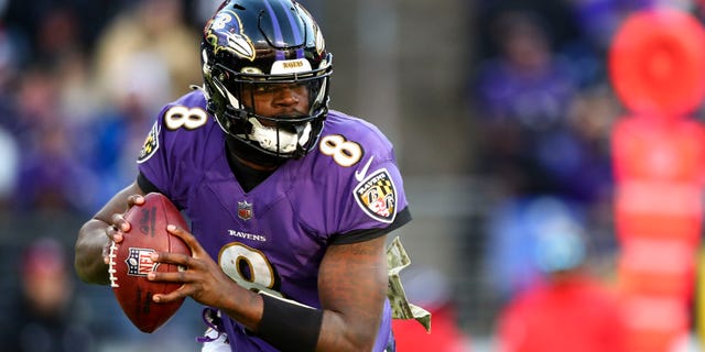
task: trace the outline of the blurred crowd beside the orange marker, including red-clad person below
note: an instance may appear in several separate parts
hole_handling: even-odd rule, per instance
[[[481,131],[473,173],[500,193],[485,222],[482,253],[486,285],[497,294],[499,351],[629,350],[615,277],[610,142],[612,127],[630,112],[612,91],[608,63],[625,19],[663,6],[702,22],[695,1],[482,1],[477,8],[482,34],[467,91],[471,127]],[[701,119],[699,110],[686,118]]]

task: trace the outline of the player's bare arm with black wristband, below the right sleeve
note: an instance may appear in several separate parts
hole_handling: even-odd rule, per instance
[[[387,297],[384,237],[330,245],[318,296],[323,309],[261,294],[257,334],[282,351],[371,351]]]

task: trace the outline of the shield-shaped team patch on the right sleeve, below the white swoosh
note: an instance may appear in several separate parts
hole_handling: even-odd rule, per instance
[[[386,168],[372,173],[352,190],[355,200],[372,217],[391,223],[397,216],[397,188]]]

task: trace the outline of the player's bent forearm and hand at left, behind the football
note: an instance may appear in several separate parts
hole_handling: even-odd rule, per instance
[[[130,206],[133,195],[144,195],[142,189],[132,183],[117,193],[90,220],[78,230],[75,245],[74,267],[78,277],[90,284],[108,285],[108,264],[105,262],[110,240],[121,241],[122,231],[129,230],[129,223],[121,218]],[[112,224],[119,226],[117,231]]]

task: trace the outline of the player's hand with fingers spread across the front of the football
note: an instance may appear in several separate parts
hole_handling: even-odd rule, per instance
[[[152,254],[153,262],[170,263],[186,268],[172,273],[151,272],[148,275],[151,280],[183,283],[182,287],[167,295],[154,295],[155,302],[171,302],[189,296],[202,305],[223,307],[227,296],[224,293],[234,294],[234,290],[245,289],[223,272],[192,233],[175,226],[169,226],[166,230],[184,240],[191,249],[192,256],[169,252]]]

